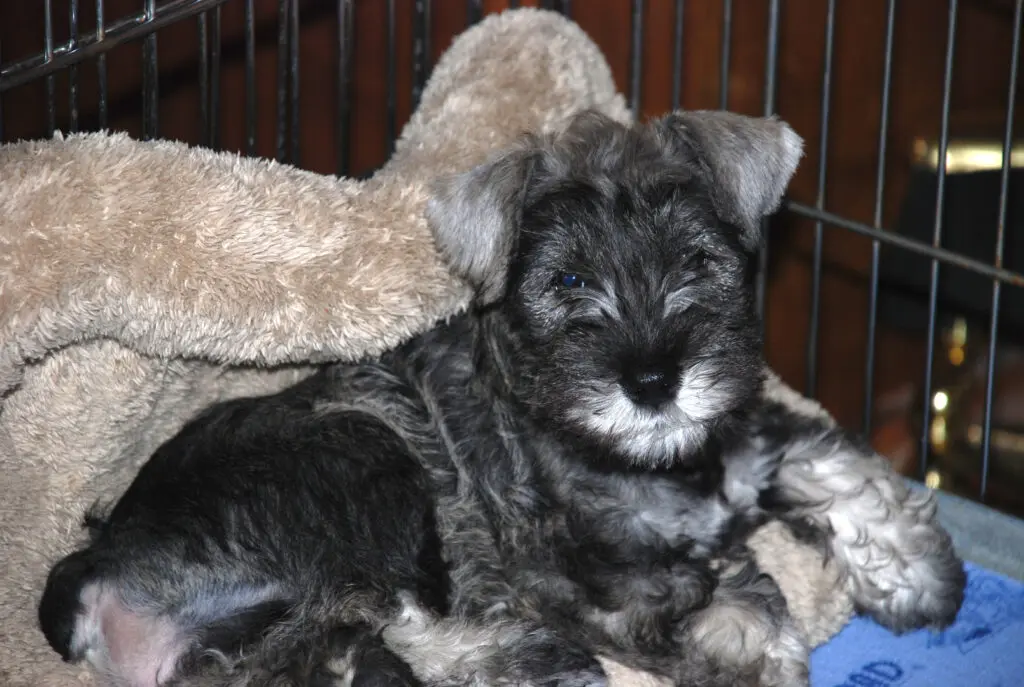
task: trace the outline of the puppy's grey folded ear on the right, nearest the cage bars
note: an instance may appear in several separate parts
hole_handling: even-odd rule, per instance
[[[778,209],[803,156],[803,139],[775,118],[721,111],[674,113],[655,126],[689,148],[716,212],[742,230],[746,248],[758,248],[761,219]]]

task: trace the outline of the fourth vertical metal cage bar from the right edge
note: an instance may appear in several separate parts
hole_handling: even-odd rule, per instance
[[[818,187],[814,202],[816,210],[824,210],[825,184],[828,169],[828,114],[831,104],[833,47],[836,36],[836,0],[828,0],[825,12],[825,56],[821,74],[821,131],[818,137]],[[807,384],[805,395],[814,398],[818,381],[818,330],[821,327],[821,261],[824,226],[814,222],[814,254],[811,272],[811,317],[807,332]]]

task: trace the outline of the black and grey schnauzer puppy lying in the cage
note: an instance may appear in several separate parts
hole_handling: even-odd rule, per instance
[[[949,624],[931,498],[762,393],[752,256],[800,156],[771,119],[585,113],[447,180],[471,310],[189,423],[51,571],[48,641],[132,687],[806,685],[743,549],[768,518],[883,625]]]

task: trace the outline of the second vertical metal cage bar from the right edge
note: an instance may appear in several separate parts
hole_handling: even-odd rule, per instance
[[[942,246],[942,210],[946,191],[946,151],[949,145],[949,100],[953,84],[953,49],[956,42],[956,8],[957,0],[949,0],[949,28],[946,34],[945,75],[942,84],[942,122],[939,131],[939,164],[937,170],[937,188],[935,192],[935,230],[932,235],[932,246]],[[935,357],[935,330],[938,320],[939,298],[939,261],[932,260],[932,278],[928,302],[928,343],[925,351],[925,402],[922,412],[921,429],[921,477],[928,474],[928,447],[932,424],[932,368]]]

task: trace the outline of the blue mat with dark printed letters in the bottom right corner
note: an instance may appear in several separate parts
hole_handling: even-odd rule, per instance
[[[811,656],[813,687],[1024,687],[1024,584],[967,565],[956,622],[897,637],[854,618]]]

